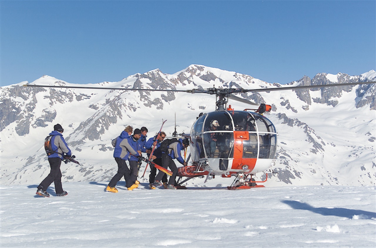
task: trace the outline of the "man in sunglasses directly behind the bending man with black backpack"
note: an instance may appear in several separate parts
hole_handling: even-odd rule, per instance
[[[150,153],[153,149],[153,146],[156,146],[156,148],[153,151],[153,155],[151,159],[154,163],[158,164],[159,166],[162,166],[162,152],[160,149],[161,142],[166,137],[165,132],[160,132],[159,137],[157,139],[158,135],[155,135],[153,138],[149,138],[149,140],[145,143],[145,148],[147,149],[146,153],[149,154],[148,157],[150,157]],[[155,186],[153,185],[155,175],[157,174],[157,168],[153,166],[153,164],[150,165],[150,174],[149,174],[149,188],[155,189]],[[167,174],[164,173],[162,176],[162,183],[163,187],[167,189]]]

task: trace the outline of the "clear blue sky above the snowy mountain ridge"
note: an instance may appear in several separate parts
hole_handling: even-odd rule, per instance
[[[376,69],[376,1],[0,1],[1,85],[191,64],[285,84]]]

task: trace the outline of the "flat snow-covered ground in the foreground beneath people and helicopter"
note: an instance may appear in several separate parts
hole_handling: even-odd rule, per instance
[[[42,180],[42,178],[41,178]],[[1,186],[1,247],[376,247],[376,187]]]

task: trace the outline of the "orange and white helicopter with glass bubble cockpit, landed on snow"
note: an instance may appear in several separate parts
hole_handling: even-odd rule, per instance
[[[193,123],[190,134],[180,134],[190,139],[190,155],[192,165],[178,168],[178,188],[186,181],[206,176],[221,176],[230,178],[235,176],[231,186],[227,189],[250,189],[264,187],[261,183],[267,181],[267,172],[264,181],[255,181],[255,173],[264,172],[274,163],[277,148],[277,130],[274,124],[263,114],[270,112],[271,105],[265,103],[256,104],[247,99],[234,96],[234,93],[297,90],[307,88],[338,87],[359,84],[374,84],[376,82],[355,82],[344,84],[304,85],[276,88],[207,88],[192,90],[168,90],[168,89],[140,89],[140,88],[112,88],[112,87],[85,87],[63,85],[30,85],[27,87],[48,88],[85,88],[101,90],[133,90],[133,91],[167,91],[185,93],[215,94],[216,109],[208,113],[200,113]],[[231,105],[227,107],[228,100],[236,100],[247,104],[257,105],[255,109],[243,111],[233,110]],[[174,136],[176,136],[176,130]],[[182,180],[185,177],[186,179]],[[180,187],[179,187],[180,186]]]

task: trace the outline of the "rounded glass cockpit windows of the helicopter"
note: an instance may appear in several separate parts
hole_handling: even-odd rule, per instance
[[[276,153],[276,129],[266,117],[247,111],[215,111],[200,116],[191,129],[193,160],[233,158],[234,133],[243,131],[243,158],[271,158]]]

